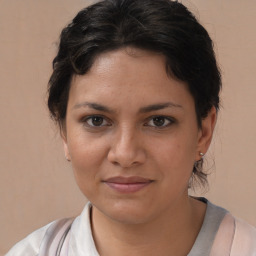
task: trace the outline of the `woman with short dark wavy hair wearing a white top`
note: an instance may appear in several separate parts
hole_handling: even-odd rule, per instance
[[[256,255],[256,230],[188,195],[202,170],[221,77],[180,3],[105,0],[63,29],[48,106],[89,203],[10,255]]]

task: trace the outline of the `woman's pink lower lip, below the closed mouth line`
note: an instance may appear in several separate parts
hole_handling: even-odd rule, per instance
[[[105,182],[110,188],[118,191],[119,193],[135,193],[148,186],[151,182],[146,183],[112,183]]]

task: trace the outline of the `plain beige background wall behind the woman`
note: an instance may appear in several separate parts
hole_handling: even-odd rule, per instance
[[[85,203],[45,100],[60,30],[88,2],[0,0],[0,255]],[[223,70],[204,196],[256,225],[256,2],[183,2],[211,33]]]

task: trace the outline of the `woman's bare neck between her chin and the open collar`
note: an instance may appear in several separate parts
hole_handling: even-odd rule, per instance
[[[97,250],[101,256],[187,255],[202,226],[205,209],[205,204],[186,196],[149,222],[127,224],[93,207]]]

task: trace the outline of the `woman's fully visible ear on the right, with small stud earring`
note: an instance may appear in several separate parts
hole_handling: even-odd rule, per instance
[[[200,160],[202,156],[200,153],[205,154],[211,144],[214,127],[217,120],[216,108],[212,107],[207,117],[202,120],[202,126],[199,132],[196,161]]]

